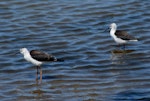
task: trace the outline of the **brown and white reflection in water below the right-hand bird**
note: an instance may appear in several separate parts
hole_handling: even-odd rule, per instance
[[[129,54],[133,51],[134,50],[112,50],[111,51],[112,64],[124,64],[124,63],[126,63],[127,54]]]

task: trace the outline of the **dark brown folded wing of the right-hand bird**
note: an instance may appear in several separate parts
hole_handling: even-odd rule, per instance
[[[137,40],[135,37],[129,35],[126,31],[122,30],[117,30],[115,35],[123,40]]]

